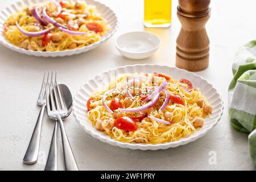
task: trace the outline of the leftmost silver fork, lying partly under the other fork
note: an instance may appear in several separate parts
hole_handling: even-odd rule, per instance
[[[36,121],[36,125],[30,139],[30,144],[28,144],[28,148],[26,154],[23,158],[23,162],[26,164],[34,164],[38,160],[38,152],[39,152],[39,145],[40,145],[40,137],[41,137],[41,130],[42,130],[42,121],[44,110],[46,108],[46,97],[45,97],[45,81],[47,77],[47,72],[44,72],[43,83],[41,86],[40,94],[38,97],[37,104],[41,106],[38,120]]]

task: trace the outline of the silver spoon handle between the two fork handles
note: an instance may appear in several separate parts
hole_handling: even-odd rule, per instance
[[[58,122],[56,121],[46,162],[46,168],[44,168],[44,171],[57,171],[57,127]]]

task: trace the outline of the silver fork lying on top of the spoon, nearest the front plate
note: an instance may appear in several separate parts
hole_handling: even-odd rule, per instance
[[[76,160],[69,144],[63,121],[61,119],[65,115],[68,115],[68,110],[64,105],[60,88],[57,84],[57,72],[55,72],[55,78],[53,78],[53,75],[54,74],[52,72],[51,81],[47,79],[47,82],[45,83],[47,115],[50,119],[57,120],[60,124],[66,170],[78,171],[79,168],[77,167]]]

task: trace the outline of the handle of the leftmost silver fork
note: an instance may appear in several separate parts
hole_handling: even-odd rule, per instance
[[[38,120],[36,121],[36,125],[30,139],[30,144],[28,144],[28,148],[26,154],[23,158],[23,162],[25,164],[35,164],[38,160],[38,152],[39,152],[39,144],[40,144],[40,136],[41,136],[41,129],[42,129],[42,121],[44,110],[46,108],[46,104],[43,104],[41,110],[38,115]]]

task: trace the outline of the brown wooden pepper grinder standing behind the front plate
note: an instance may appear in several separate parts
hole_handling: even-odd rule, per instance
[[[209,38],[205,24],[210,18],[210,0],[179,0],[177,16],[181,22],[177,38],[176,66],[201,71],[209,65]]]

